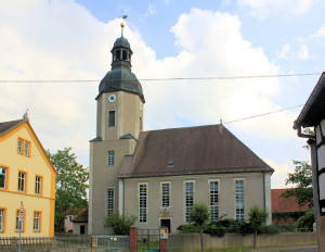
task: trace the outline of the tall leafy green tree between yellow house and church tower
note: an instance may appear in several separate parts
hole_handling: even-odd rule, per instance
[[[55,223],[56,231],[64,231],[64,219],[67,214],[77,214],[88,207],[86,199],[86,184],[89,178],[89,169],[77,162],[75,153],[70,153],[72,148],[57,150],[48,155],[56,168],[56,190],[55,190]]]

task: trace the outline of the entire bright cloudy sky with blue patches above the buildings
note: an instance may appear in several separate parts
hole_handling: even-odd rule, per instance
[[[28,109],[44,149],[72,147],[89,166],[99,84],[128,15],[144,130],[222,119],[286,187],[291,161],[310,159],[292,125],[325,71],[324,12],[321,0],[0,1],[0,122]]]

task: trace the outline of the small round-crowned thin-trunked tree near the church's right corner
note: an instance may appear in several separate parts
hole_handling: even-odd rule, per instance
[[[268,211],[265,209],[260,209],[257,205],[252,206],[248,213],[248,220],[251,228],[253,229],[253,248],[256,248],[258,229],[260,227],[266,226],[268,217]]]

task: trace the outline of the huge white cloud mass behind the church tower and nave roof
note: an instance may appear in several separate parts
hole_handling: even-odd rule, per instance
[[[100,80],[110,70],[110,49],[120,36],[119,23],[101,23],[74,1],[1,1],[1,78]],[[243,38],[236,15],[193,9],[180,15],[171,30],[179,53],[157,60],[141,36],[126,27],[138,78],[278,73],[263,48]],[[1,85],[0,122],[20,118],[29,108],[31,125],[46,149],[73,147],[87,160],[89,140],[95,137],[98,85]],[[227,122],[282,109],[273,101],[281,89],[276,78],[142,81],[142,86],[145,129],[217,124],[220,117]],[[296,137],[291,130],[296,116],[292,112],[276,113],[234,127],[286,139]]]

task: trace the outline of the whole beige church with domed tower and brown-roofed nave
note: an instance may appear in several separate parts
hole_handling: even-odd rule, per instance
[[[117,211],[135,215],[140,229],[176,232],[196,202],[208,205],[211,219],[245,219],[258,205],[270,223],[274,171],[222,124],[143,131],[144,92],[121,28],[95,98],[88,232],[108,234],[104,219]]]

